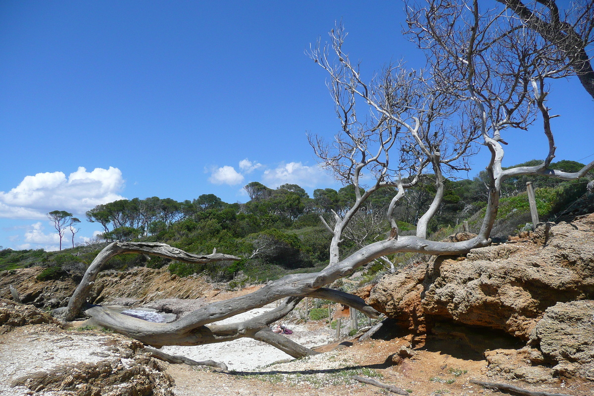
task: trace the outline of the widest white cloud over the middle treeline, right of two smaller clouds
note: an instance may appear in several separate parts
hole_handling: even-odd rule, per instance
[[[277,188],[285,183],[314,188],[336,181],[317,165],[307,166],[301,162],[289,162],[280,164],[276,169],[265,170],[262,182],[270,188]]]

